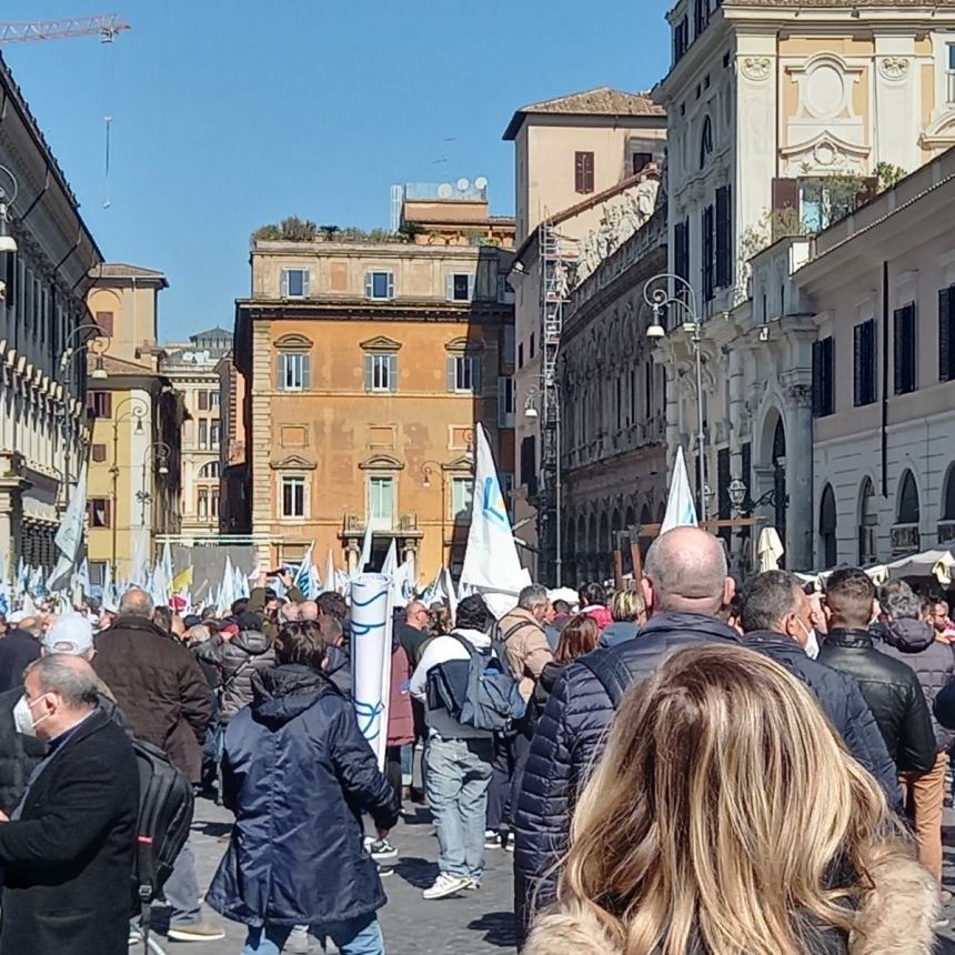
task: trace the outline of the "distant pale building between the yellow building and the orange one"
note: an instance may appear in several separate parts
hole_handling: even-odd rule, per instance
[[[222,412],[219,362],[232,351],[232,332],[209,329],[182,344],[163,345],[160,372],[182,395],[181,533],[219,533]]]

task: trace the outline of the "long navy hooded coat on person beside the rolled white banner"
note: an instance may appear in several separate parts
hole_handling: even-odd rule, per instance
[[[255,698],[225,731],[232,840],[205,901],[234,922],[321,925],[385,903],[362,845],[361,814],[398,822],[355,714],[323,674],[288,664],[257,674]]]

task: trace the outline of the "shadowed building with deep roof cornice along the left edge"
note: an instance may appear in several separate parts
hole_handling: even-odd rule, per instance
[[[89,431],[84,414],[87,272],[102,254],[63,170],[4,62],[0,62],[0,577],[20,559],[50,569],[53,536],[72,496]]]

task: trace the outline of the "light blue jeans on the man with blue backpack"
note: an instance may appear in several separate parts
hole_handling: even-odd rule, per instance
[[[428,742],[428,804],[438,830],[438,867],[480,879],[484,872],[484,823],[491,783],[491,740]]]

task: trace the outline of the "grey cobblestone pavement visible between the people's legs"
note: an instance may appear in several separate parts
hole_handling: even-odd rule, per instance
[[[231,815],[225,810],[207,800],[197,801],[192,845],[201,892],[209,887],[225,852],[225,842],[219,840],[228,833],[230,823]],[[382,879],[388,905],[379,913],[388,955],[485,955],[514,951],[511,853],[487,851],[480,892],[425,902],[421,891],[438,874],[438,841],[430,815],[419,810],[414,818],[399,823],[390,841],[399,857],[394,873]],[[155,921],[161,922],[162,917],[160,907]],[[243,926],[227,922],[208,908],[203,908],[203,917],[225,929],[224,941],[178,943],[162,935],[157,941],[168,955],[238,955],[245,941]],[[330,951],[334,952],[334,946]],[[130,952],[140,955],[142,946]],[[313,952],[318,955],[321,948],[314,945]]]

